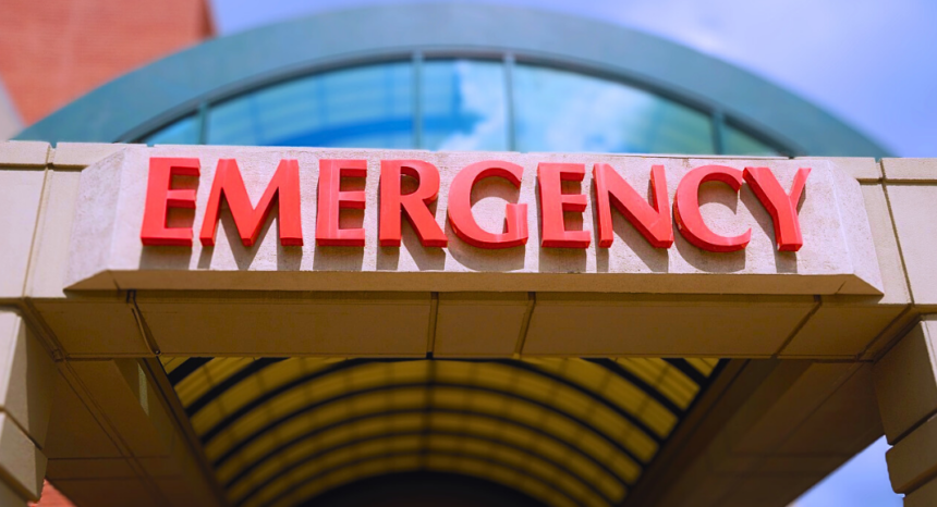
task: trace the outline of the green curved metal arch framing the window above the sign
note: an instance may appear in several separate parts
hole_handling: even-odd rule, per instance
[[[885,157],[883,147],[767,81],[636,30],[504,5],[430,3],[328,12],[210,40],[121,76],[16,139],[120,141],[264,84],[355,62],[510,54],[635,83],[729,118],[796,154]]]

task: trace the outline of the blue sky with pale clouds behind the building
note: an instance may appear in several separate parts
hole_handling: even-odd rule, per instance
[[[212,0],[221,35],[399,0]],[[510,0],[642,29],[812,100],[900,157],[937,157],[935,0]],[[258,7],[263,5],[263,8]],[[798,507],[899,507],[873,444]]]

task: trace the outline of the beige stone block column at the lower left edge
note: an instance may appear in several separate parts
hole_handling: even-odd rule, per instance
[[[0,307],[0,505],[39,499],[57,374],[22,317]]]

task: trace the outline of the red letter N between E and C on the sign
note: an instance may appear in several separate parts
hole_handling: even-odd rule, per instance
[[[673,227],[670,224],[670,202],[667,198],[664,165],[650,168],[653,195],[649,205],[609,164],[595,164],[593,180],[595,180],[596,214],[598,215],[598,246],[609,248],[613,240],[612,205],[655,248],[670,248],[670,245],[673,245]]]

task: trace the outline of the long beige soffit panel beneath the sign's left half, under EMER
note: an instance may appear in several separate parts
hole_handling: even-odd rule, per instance
[[[162,354],[423,356],[429,294],[138,294]]]

